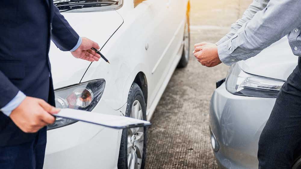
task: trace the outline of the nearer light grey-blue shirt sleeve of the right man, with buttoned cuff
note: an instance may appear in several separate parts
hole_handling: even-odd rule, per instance
[[[226,65],[232,65],[256,56],[300,26],[300,9],[300,0],[271,0],[235,35],[218,45],[219,59]]]

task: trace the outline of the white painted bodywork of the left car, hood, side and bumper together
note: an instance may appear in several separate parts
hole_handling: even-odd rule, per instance
[[[117,11],[63,13],[80,36],[103,47],[101,53],[111,64],[102,59],[92,64],[75,59],[54,44],[49,55],[55,89],[106,80],[101,100],[93,109],[99,113],[123,116],[129,89],[143,72],[150,120],[182,55],[188,0],[147,0],[136,8],[133,4],[133,0],[124,0]],[[47,134],[45,169],[117,168],[122,130],[76,122]]]

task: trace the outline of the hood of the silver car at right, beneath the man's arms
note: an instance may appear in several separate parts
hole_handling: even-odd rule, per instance
[[[257,56],[238,64],[243,71],[280,80],[287,80],[296,68],[298,56],[290,48],[287,38],[275,42]]]

